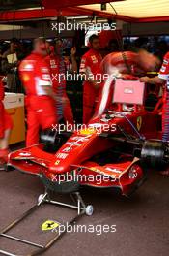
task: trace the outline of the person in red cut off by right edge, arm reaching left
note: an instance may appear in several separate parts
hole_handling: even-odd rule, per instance
[[[163,84],[166,82],[162,108],[162,141],[169,142],[169,52],[164,56],[158,76],[155,78],[142,77],[140,80],[153,84]],[[169,170],[161,173],[169,176]]]

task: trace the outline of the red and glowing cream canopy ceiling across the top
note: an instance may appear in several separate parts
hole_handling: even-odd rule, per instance
[[[100,3],[106,3],[105,11]],[[169,21],[169,0],[0,0],[0,6],[0,21],[93,14],[127,22]]]

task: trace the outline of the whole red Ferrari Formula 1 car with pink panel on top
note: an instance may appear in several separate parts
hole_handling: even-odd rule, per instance
[[[116,110],[72,134],[55,131],[54,139],[43,134],[44,144],[12,152],[8,166],[39,175],[46,186],[62,192],[88,185],[130,194],[144,179],[143,165],[161,168],[168,159],[167,145],[155,140],[160,138],[160,104],[147,112],[144,91],[144,83],[117,80]],[[52,144],[55,152],[51,153]]]

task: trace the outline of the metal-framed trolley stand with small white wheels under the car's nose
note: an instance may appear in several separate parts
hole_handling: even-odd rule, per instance
[[[43,176],[44,178],[44,176]],[[44,180],[42,180],[44,181]],[[55,205],[55,206],[62,206],[62,207],[66,207],[66,208],[73,208],[77,210],[77,214],[75,217],[73,217],[70,222],[69,225],[73,225],[75,223],[75,221],[77,221],[83,214],[87,214],[87,215],[92,215],[93,214],[93,206],[89,205],[86,206],[80,193],[78,191],[75,192],[70,192],[70,197],[71,199],[76,203],[76,204],[66,204],[63,202],[58,202],[58,201],[54,201],[50,199],[50,191],[56,191],[58,190],[58,185],[56,184],[55,187],[51,187],[51,183],[50,184],[46,184],[46,182],[44,181],[43,183],[45,183],[45,192],[44,194],[41,194],[38,198],[38,202],[37,204],[33,207],[30,208],[29,210],[27,210],[22,216],[20,216],[19,218],[15,219],[13,223],[11,223],[8,227],[4,228],[4,230],[0,233],[0,238],[6,238],[9,240],[15,240],[24,244],[28,244],[30,246],[35,247],[36,249],[29,253],[29,254],[25,254],[25,256],[33,256],[33,255],[40,255],[42,254],[42,252],[46,251],[51,245],[54,244],[54,242],[56,240],[59,240],[64,234],[67,233],[66,229],[64,232],[62,232],[61,234],[56,234],[51,240],[47,241],[47,243],[45,245],[30,241],[30,240],[22,240],[21,238],[17,238],[14,236],[10,236],[7,233],[12,230],[17,224],[19,224],[22,220],[24,220],[26,217],[28,217],[29,215],[33,214],[38,208],[40,208],[43,204],[51,204],[51,205]],[[48,186],[48,188],[50,188],[49,190],[47,189],[46,185]],[[59,187],[60,190],[60,187]],[[73,190],[73,189],[70,189]],[[17,256],[17,254],[14,254],[13,252],[9,252],[9,251],[5,251],[2,250],[0,248],[0,254],[3,255],[9,255],[9,256]]]

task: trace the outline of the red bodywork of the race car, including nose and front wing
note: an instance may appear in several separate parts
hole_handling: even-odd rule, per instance
[[[124,129],[127,134],[138,136],[129,120],[146,139],[156,139],[160,134],[160,116],[158,111],[147,112],[143,106],[135,106],[130,112],[109,111],[108,114],[108,118],[102,114],[91,121],[87,129],[75,131],[56,153],[44,152],[43,145],[36,144],[12,152],[9,165],[32,175],[43,173],[55,182],[61,181],[61,176],[65,181],[64,177],[70,175],[75,176],[81,185],[115,187],[128,194],[144,176],[139,159],[124,158],[122,155],[120,161],[112,160],[112,163],[99,165],[93,157],[120,144],[102,135],[106,133],[112,137],[122,137],[121,131]],[[121,127],[121,131],[118,127]]]

